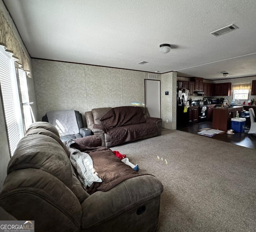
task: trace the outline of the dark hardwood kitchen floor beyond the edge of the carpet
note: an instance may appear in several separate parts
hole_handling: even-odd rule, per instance
[[[195,122],[192,123],[190,126],[186,126],[183,128],[178,128],[177,130],[181,130],[184,132],[197,134],[200,129],[203,128],[212,128],[212,122],[206,121],[206,122]],[[236,144],[239,146],[244,146],[246,148],[252,148],[256,149],[256,136],[248,136],[248,131],[245,130],[242,133],[235,133],[235,134],[216,134],[213,137],[208,137],[209,139],[216,139],[216,140],[222,140],[224,142],[230,142],[232,144]],[[198,135],[202,136],[202,135]]]

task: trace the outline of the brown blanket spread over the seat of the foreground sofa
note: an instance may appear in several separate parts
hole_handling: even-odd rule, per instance
[[[86,137],[84,137],[86,138]],[[94,192],[108,191],[123,180],[127,180],[129,178],[135,176],[141,176],[146,174],[140,174],[134,171],[130,166],[124,164],[110,148],[98,146],[98,147],[86,147],[81,139],[74,140],[70,147],[72,148],[80,148],[81,152],[86,152],[92,158],[93,166],[95,171],[98,173],[98,177],[102,179],[101,183],[94,182],[90,188],[88,188],[87,192],[89,194],[93,194]]]

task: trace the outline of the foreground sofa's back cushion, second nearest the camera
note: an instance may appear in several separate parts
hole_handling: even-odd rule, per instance
[[[60,144],[43,134],[23,137],[10,159],[7,174],[14,170],[36,168],[55,176],[66,186],[72,185],[70,160]]]

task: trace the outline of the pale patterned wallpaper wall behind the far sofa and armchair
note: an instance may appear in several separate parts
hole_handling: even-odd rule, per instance
[[[38,120],[51,110],[74,109],[84,117],[93,108],[145,104],[147,72],[40,59],[32,59],[32,69]]]

